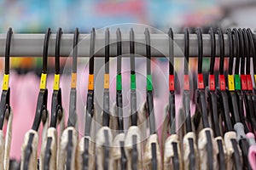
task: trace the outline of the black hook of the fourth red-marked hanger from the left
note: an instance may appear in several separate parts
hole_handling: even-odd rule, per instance
[[[213,28],[211,27],[209,30],[209,34],[211,37],[211,64],[210,64],[210,75],[214,74],[214,65],[215,65],[215,57],[216,57],[216,39]]]

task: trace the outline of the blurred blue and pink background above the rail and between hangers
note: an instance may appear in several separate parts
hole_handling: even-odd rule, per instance
[[[207,31],[210,26],[222,27],[250,27],[253,31],[256,28],[256,1],[255,0],[0,0],[0,33],[6,34],[9,27],[15,33],[44,33],[48,27],[53,32],[58,27],[62,27],[65,33],[73,33],[75,27],[79,27],[80,32],[89,32],[92,27],[100,29],[123,23],[137,23],[153,26],[160,31],[166,32],[172,27],[175,33],[182,32],[184,27],[201,27]],[[193,30],[193,29],[192,29]],[[207,59],[204,60],[209,63]],[[61,59],[62,67],[67,63],[67,59]],[[81,59],[79,60],[81,63]],[[176,61],[178,62],[178,61]],[[190,62],[196,65],[196,60]],[[0,59],[0,72],[3,76],[3,58]],[[127,61],[129,63],[129,61]],[[160,70],[165,70],[167,77],[167,65],[161,59],[155,59],[154,63],[161,69],[154,69],[154,88],[160,87]],[[49,59],[49,67],[53,67],[53,58]],[[83,65],[83,62],[82,62]],[[162,66],[164,65],[164,66]],[[180,65],[180,64],[175,64]],[[191,68],[196,70],[196,66]],[[137,62],[137,68],[145,67],[143,61]],[[11,59],[12,72],[10,74],[11,105],[14,111],[14,135],[11,146],[11,157],[20,159],[20,146],[23,142],[24,134],[32,125],[36,101],[38,96],[39,75],[42,68],[42,59],[24,56],[23,58]],[[113,62],[113,70],[115,63]],[[82,66],[79,71],[85,71]],[[129,71],[130,66],[125,65],[124,69]],[[144,71],[142,69],[142,71]],[[179,68],[180,69],[180,68]],[[208,69],[208,68],[207,68]],[[52,71],[52,69],[49,69]],[[70,71],[67,71],[70,73]],[[111,72],[111,71],[110,71]],[[64,72],[65,73],[65,72]],[[124,82],[129,84],[129,72],[127,72]],[[82,99],[86,99],[87,75],[79,73],[84,77],[79,80],[82,90],[79,91]],[[84,73],[85,74],[85,73]],[[88,73],[87,73],[88,74]],[[156,77],[156,78],[155,78]],[[114,75],[112,75],[114,79]],[[2,78],[0,79],[2,82]],[[48,80],[49,92],[52,91],[53,76]],[[62,77],[62,88],[64,87],[64,107],[68,108],[68,95],[70,88],[70,77]],[[66,83],[67,82],[67,83]],[[83,83],[82,83],[83,82]],[[196,82],[196,81],[195,81]],[[63,85],[64,84],[64,85]],[[85,84],[85,85],[84,85]],[[165,84],[165,83],[163,83]],[[79,87],[80,88],[80,87]],[[127,91],[129,86],[126,87]],[[145,88],[145,87],[140,87]],[[178,86],[177,86],[178,88]],[[114,88],[113,88],[114,89]],[[162,90],[164,91],[164,90]],[[144,91],[142,91],[144,94]],[[156,90],[157,92],[157,90]],[[163,113],[163,108],[168,99],[167,93],[156,93],[156,100],[159,103],[156,107],[161,108],[156,111],[156,115]],[[49,94],[49,106],[50,106]],[[114,97],[113,97],[114,99]],[[125,98],[126,99],[126,98]],[[124,100],[125,100],[124,99]],[[129,99],[129,98],[127,98]],[[165,101],[165,102],[162,102]],[[78,113],[81,117],[84,114],[84,101],[79,100]],[[49,110],[50,111],[50,110]],[[127,110],[128,111],[128,110]],[[83,119],[79,119],[83,120]],[[83,126],[83,121],[79,122]],[[83,128],[83,127],[82,127]],[[20,134],[20,135],[17,135]]]

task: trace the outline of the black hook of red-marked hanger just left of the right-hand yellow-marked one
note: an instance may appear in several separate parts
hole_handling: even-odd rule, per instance
[[[224,36],[221,28],[218,28],[218,43],[219,43],[219,74],[224,75]]]

